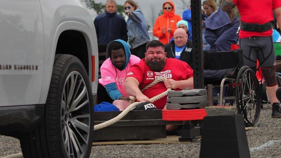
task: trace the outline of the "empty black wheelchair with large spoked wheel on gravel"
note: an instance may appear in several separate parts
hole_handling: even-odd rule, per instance
[[[256,73],[248,66],[243,66],[243,51],[241,49],[232,51],[204,51],[204,70],[224,70],[236,68],[237,74],[233,77],[222,77],[214,80],[204,80],[204,85],[212,84],[213,87],[220,87],[219,96],[213,100],[231,100],[229,105],[236,102],[237,113],[243,115],[246,127],[252,127],[257,123],[261,112],[261,88]],[[233,96],[223,96],[223,87],[227,91],[233,91]],[[226,105],[226,102],[225,104]]]

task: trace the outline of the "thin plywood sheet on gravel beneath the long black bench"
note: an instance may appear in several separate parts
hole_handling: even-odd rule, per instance
[[[251,130],[254,127],[246,127],[247,130]],[[122,145],[122,144],[171,144],[171,143],[192,143],[192,142],[179,142],[180,136],[167,136],[167,138],[158,138],[151,140],[116,140],[116,141],[95,141],[92,145]],[[201,137],[198,137],[198,141]]]

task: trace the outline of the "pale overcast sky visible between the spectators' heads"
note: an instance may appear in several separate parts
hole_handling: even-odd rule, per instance
[[[124,5],[126,0],[116,0],[117,4],[119,5]],[[102,2],[105,3],[106,0],[95,0],[96,3]],[[140,9],[142,10],[144,16],[145,16],[145,20],[147,21],[148,25],[151,25],[151,27],[154,24],[151,24],[151,18],[152,18],[152,11],[151,8],[154,8],[154,13],[155,16],[157,18],[158,13],[160,12],[160,10],[162,10],[162,5],[165,2],[164,0],[135,0],[135,2],[138,4],[138,6],[140,7]],[[176,14],[182,16],[183,14],[183,9],[182,8],[182,3],[180,2],[180,0],[174,0],[173,1],[175,4],[175,8],[176,8]],[[190,6],[190,0],[185,0],[186,3],[186,8],[188,8]],[[96,17],[96,13],[93,9],[91,9],[90,11],[91,15],[93,16],[93,19]]]

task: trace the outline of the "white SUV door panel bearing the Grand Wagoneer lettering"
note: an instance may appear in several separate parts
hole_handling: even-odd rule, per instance
[[[39,0],[1,0],[0,34],[0,106],[38,104],[44,69]]]

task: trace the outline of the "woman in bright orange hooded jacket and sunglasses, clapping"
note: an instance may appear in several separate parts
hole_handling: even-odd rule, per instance
[[[153,27],[153,35],[159,38],[164,45],[169,43],[176,30],[176,23],[181,20],[181,16],[175,14],[175,5],[172,1],[163,4],[164,14],[158,16]]]

